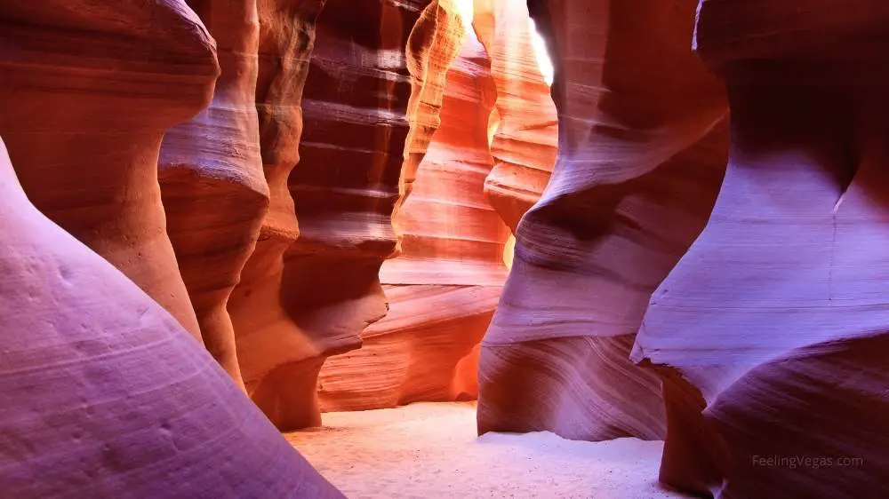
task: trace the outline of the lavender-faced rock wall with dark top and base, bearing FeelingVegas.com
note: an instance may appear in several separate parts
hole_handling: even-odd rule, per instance
[[[673,487],[889,495],[887,21],[882,2],[701,3],[729,165],[633,352],[663,380]]]

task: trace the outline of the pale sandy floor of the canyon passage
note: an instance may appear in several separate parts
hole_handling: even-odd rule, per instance
[[[468,403],[327,413],[324,428],[286,437],[351,499],[685,497],[657,485],[660,441],[477,438]]]

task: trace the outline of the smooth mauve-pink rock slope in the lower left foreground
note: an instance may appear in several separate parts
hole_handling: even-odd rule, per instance
[[[180,324],[28,202],[0,142],[0,483],[43,497],[342,497]]]

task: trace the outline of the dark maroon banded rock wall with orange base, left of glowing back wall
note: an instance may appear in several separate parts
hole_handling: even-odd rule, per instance
[[[435,123],[422,116],[440,101],[429,72],[456,55],[461,28],[444,3],[329,0],[312,51],[321,6],[260,4],[257,100],[271,209],[229,304],[248,392],[284,430],[320,422],[324,359],[358,347],[386,313],[377,274],[396,245],[402,165],[407,151],[421,157],[428,133],[407,147],[410,123]]]

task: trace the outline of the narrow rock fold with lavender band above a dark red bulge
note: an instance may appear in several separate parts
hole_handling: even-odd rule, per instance
[[[268,208],[255,106],[259,20],[256,0],[190,4],[216,40],[222,72],[210,107],[167,131],[158,176],[204,345],[243,385],[226,304]]]

